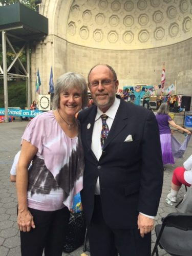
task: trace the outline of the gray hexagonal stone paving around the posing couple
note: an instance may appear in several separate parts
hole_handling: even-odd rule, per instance
[[[14,121],[12,123],[0,123],[0,255],[1,256],[19,256],[20,255],[20,238],[16,225],[16,191],[15,184],[9,181],[9,172],[13,162],[13,158],[19,150],[20,137],[22,136],[27,121]],[[175,132],[175,136],[183,141],[184,135]],[[172,178],[173,169],[182,165],[192,153],[192,139],[189,141],[187,151],[185,152],[184,159],[177,159],[175,165],[167,165],[164,172],[164,185],[161,202],[156,217],[156,223],[161,223],[161,218],[165,217],[169,212],[175,211],[175,204],[173,206],[165,203],[166,195],[170,188],[170,181]],[[184,188],[181,188],[179,199],[183,197]],[[155,233],[152,235],[152,248],[156,240]],[[63,256],[80,256],[83,253],[82,246],[76,251]],[[89,252],[86,252],[88,255]],[[164,250],[159,249],[159,255],[168,255]]]

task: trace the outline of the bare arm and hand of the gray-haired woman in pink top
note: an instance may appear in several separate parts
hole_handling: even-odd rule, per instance
[[[23,140],[22,150],[16,168],[16,189],[18,200],[17,225],[21,231],[30,231],[35,228],[33,216],[28,210],[27,187],[28,187],[28,167],[37,153],[38,148],[30,142]]]

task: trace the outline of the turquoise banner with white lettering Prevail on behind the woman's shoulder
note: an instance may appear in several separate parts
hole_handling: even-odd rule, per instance
[[[22,116],[22,117],[35,117],[40,115],[44,112],[39,110],[19,110],[19,109],[8,109],[9,116]],[[0,116],[5,115],[5,109],[0,109]]]

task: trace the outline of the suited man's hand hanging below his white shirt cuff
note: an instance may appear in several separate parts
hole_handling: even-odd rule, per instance
[[[138,229],[140,229],[140,235],[143,238],[144,234],[149,233],[154,228],[154,219],[148,218],[142,214],[138,215],[137,219]]]

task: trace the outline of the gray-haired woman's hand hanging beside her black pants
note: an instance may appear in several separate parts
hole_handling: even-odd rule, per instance
[[[32,228],[35,228],[33,216],[31,212],[27,210],[19,211],[17,216],[17,225],[20,231],[29,232]]]

